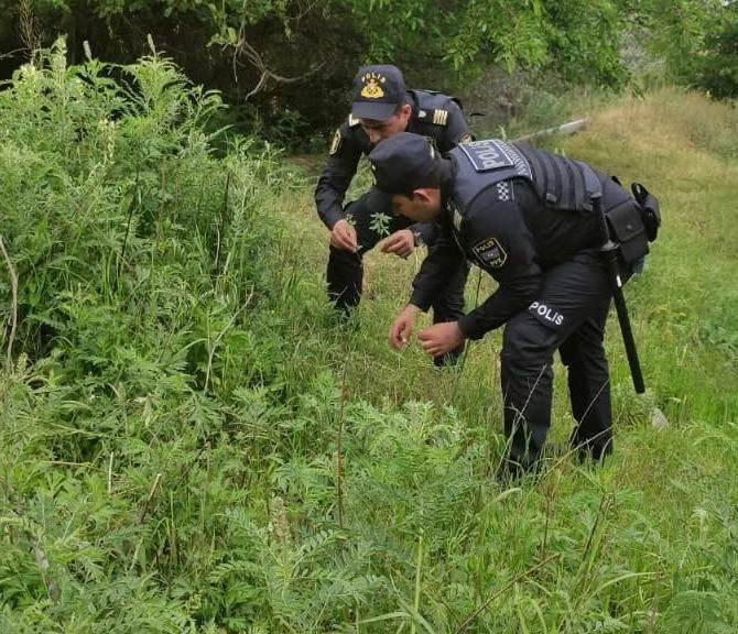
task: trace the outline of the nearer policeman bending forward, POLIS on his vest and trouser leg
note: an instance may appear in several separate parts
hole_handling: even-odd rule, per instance
[[[600,197],[622,272],[648,252],[643,209],[614,179],[588,165],[522,144],[489,140],[442,157],[421,136],[398,134],[369,155],[377,187],[395,212],[417,222],[439,220],[442,237],[413,282],[409,305],[391,327],[403,348],[417,313],[428,308],[448,271],[467,259],[499,284],[478,308],[419,334],[432,356],[506,325],[501,351],[506,469],[531,469],[551,424],[555,350],[568,370],[577,426],[572,445],[601,460],[612,451],[609,371],[603,338],[610,277],[599,248]]]

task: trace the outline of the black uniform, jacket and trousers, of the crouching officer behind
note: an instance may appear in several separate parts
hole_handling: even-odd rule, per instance
[[[469,127],[458,103],[446,95],[425,90],[408,90],[408,102],[412,106],[409,132],[415,132],[433,140],[441,152],[447,152],[460,142],[471,140]],[[344,196],[356,174],[359,158],[371,152],[371,143],[359,120],[349,116],[334,136],[328,163],[323,170],[315,189],[315,203],[323,222],[328,229],[350,215],[357,232],[359,251],[350,253],[330,248],[328,258],[328,293],[337,307],[349,309],[359,304],[363,267],[361,258],[379,242],[381,236],[371,229],[375,214],[381,212],[392,218],[389,230],[398,231],[412,223],[392,214],[390,196],[375,188],[341,208]],[[428,247],[433,247],[436,228],[434,225],[414,225],[416,236]],[[432,300],[434,321],[456,320],[464,309],[464,285],[468,266],[462,263],[453,275],[446,278],[445,287]]]

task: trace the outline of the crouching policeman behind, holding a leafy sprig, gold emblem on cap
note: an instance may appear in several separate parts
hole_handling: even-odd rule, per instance
[[[344,311],[359,304],[363,277],[361,258],[382,238],[375,221],[378,214],[392,218],[391,234],[382,243],[386,253],[406,258],[416,245],[431,245],[434,239],[433,223],[413,225],[404,218],[392,217],[389,197],[376,189],[341,207],[361,155],[369,154],[382,139],[405,130],[432,139],[442,152],[471,140],[456,100],[426,90],[408,90],[395,66],[360,68],[354,81],[352,98],[351,114],[335,133],[328,162],[315,189],[318,215],[330,230],[328,293],[336,307]],[[466,265],[459,266],[433,299],[434,320],[448,321],[462,315],[467,272]]]

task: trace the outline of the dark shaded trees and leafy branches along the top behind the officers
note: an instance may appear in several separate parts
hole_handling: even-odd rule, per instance
[[[650,81],[736,96],[737,7],[724,0],[0,0],[0,77],[59,33],[72,63],[91,54],[122,64],[146,51],[150,34],[194,81],[223,91],[241,130],[315,150],[315,131],[346,116],[348,86],[368,62],[393,62],[409,85],[466,103],[474,103],[468,98],[479,83],[495,94],[506,78],[515,89],[621,89],[642,81],[644,66]]]

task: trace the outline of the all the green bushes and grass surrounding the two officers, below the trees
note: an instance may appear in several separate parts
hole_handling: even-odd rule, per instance
[[[628,296],[672,425],[611,324],[614,459],[501,490],[499,335],[390,350],[420,260],[379,254],[336,324],[312,183],[220,108],[63,48],[0,92],[0,632],[735,632],[735,109],[664,90],[561,142],[662,198]]]

